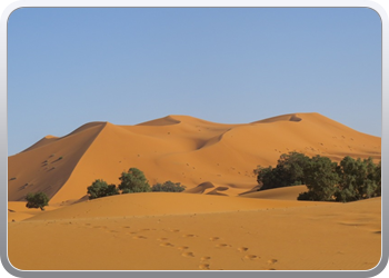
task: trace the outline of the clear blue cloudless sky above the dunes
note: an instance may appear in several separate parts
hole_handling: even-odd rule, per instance
[[[319,112],[381,136],[367,8],[22,8],[8,21],[8,150],[90,121]]]

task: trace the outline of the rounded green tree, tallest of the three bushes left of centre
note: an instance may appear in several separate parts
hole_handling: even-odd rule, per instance
[[[130,168],[128,172],[122,172],[119,179],[121,180],[119,189],[122,193],[151,191],[149,181],[146,179],[144,173],[137,168]]]

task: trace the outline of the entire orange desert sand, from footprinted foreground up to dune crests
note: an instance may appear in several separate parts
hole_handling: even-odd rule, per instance
[[[281,153],[381,158],[381,138],[319,113],[223,125],[168,116],[87,123],[8,159],[8,255],[23,270],[367,270],[381,256],[381,198],[298,201],[305,186],[256,191]],[[88,200],[96,179],[136,167],[183,192]],[[28,192],[50,197],[26,208]],[[39,250],[39,256],[37,256]]]

